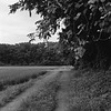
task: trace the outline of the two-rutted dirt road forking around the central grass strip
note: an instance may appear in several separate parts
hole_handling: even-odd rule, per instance
[[[56,82],[59,85],[59,89],[56,92],[56,108],[53,111],[69,111],[67,100],[68,100],[68,89],[69,89],[71,69],[72,68],[62,67],[59,69],[50,70],[47,75],[36,81],[36,83],[31,88],[29,88],[22,94],[13,99],[13,101],[9,102],[6,107],[0,109],[0,111],[23,111],[23,110],[18,110],[20,109],[22,101],[26,101],[27,98],[33,95],[34,92],[39,93],[39,91],[41,91],[46,84],[51,82]],[[39,110],[24,110],[24,111],[39,111]]]

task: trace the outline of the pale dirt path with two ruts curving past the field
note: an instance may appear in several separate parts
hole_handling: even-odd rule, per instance
[[[23,99],[28,98],[32,92],[34,92],[38,88],[38,90],[48,81],[50,80],[59,80],[61,90],[57,93],[58,99],[58,105],[56,111],[68,111],[67,109],[67,92],[65,89],[68,87],[69,75],[67,71],[69,71],[71,68],[60,68],[56,69],[53,71],[50,71],[48,75],[46,75],[43,79],[38,80],[33,87],[26,90],[21,95],[19,95],[17,99],[14,99],[12,102],[8,103],[6,107],[0,109],[0,111],[16,111]],[[62,74],[60,74],[62,72]],[[37,87],[38,85],[38,87]]]

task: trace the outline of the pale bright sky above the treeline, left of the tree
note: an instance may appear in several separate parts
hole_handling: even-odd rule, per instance
[[[9,14],[9,4],[18,0],[0,0],[0,43],[14,44],[28,42],[28,33],[36,31],[34,22],[40,20],[40,16],[32,13],[29,17],[28,11],[17,11],[14,14]],[[57,36],[50,39],[57,41]],[[34,43],[42,42],[36,38]]]

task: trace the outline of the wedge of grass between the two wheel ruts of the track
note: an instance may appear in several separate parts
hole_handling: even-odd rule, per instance
[[[39,90],[22,100],[17,111],[54,111],[57,107],[56,97],[58,90],[59,85],[56,81],[47,81]]]

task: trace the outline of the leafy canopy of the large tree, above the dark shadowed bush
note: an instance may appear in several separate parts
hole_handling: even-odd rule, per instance
[[[31,11],[36,10],[43,18],[36,22],[41,38],[54,33],[60,27],[61,19],[64,19],[68,42],[77,38],[98,41],[110,37],[109,0],[19,0],[10,6],[10,13],[18,9],[28,10],[30,16]]]

